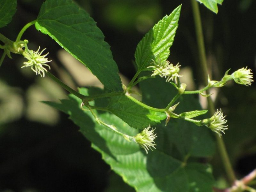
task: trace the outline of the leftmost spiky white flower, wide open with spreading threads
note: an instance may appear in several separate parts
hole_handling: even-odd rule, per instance
[[[46,63],[49,63],[51,62],[52,60],[48,61],[48,58],[45,58],[47,54],[45,55],[42,55],[43,51],[46,50],[46,49],[43,49],[41,52],[39,52],[40,50],[40,46],[38,48],[37,51],[33,51],[33,50],[25,50],[23,52],[23,56],[28,59],[27,62],[24,62],[23,67],[31,67],[31,69],[38,75],[40,74],[41,77],[45,76],[45,72],[47,72],[47,69],[45,68],[46,67],[49,67],[49,69],[51,69],[51,67],[49,65],[47,65]]]

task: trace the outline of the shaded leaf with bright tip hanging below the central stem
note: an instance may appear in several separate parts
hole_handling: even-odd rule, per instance
[[[111,97],[107,109],[131,127],[139,129],[160,123],[166,118],[164,113],[145,109],[126,96]]]

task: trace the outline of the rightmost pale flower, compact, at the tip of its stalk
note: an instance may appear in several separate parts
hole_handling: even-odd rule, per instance
[[[247,67],[238,69],[237,71],[232,73],[231,76],[236,83],[242,84],[245,86],[251,85],[252,84],[251,82],[253,81],[252,70],[247,69]]]

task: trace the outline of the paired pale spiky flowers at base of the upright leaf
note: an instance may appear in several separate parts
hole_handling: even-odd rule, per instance
[[[165,77],[166,81],[174,81],[177,83],[177,78],[181,77],[179,75],[180,73],[180,66],[179,63],[177,65],[170,64],[169,61],[161,61],[160,58],[158,58],[157,62],[152,59],[153,66],[148,66],[148,68],[152,68],[153,74],[151,76],[159,75],[160,77]]]

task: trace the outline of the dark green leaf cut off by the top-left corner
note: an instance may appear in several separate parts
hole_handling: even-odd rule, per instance
[[[12,16],[16,12],[17,0],[0,1],[0,27],[6,26],[11,22]]]

